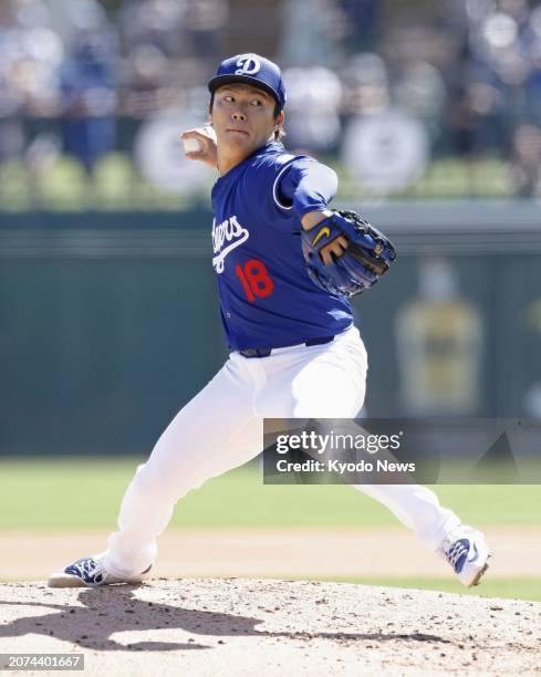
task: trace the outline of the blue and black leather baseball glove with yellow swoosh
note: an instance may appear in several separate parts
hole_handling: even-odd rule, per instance
[[[347,249],[323,263],[321,250],[344,236]],[[333,211],[311,230],[302,230],[302,252],[310,278],[321,289],[341,296],[354,296],[377,282],[396,259],[388,238],[355,211]]]

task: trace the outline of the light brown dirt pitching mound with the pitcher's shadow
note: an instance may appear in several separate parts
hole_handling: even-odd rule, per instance
[[[541,664],[534,602],[158,579],[97,590],[4,583],[0,604],[0,653],[83,653],[84,675],[539,675]]]

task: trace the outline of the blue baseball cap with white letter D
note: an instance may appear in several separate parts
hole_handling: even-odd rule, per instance
[[[245,82],[253,87],[259,87],[274,97],[280,110],[285,105],[285,87],[282,72],[275,63],[260,56],[259,54],[237,54],[222,61],[218,71],[208,83],[208,88],[214,92],[217,87],[230,82]]]

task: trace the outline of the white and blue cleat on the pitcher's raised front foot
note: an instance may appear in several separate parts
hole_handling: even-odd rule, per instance
[[[441,542],[438,552],[466,587],[478,585],[488,569],[490,551],[485,535],[471,527],[457,527]]]

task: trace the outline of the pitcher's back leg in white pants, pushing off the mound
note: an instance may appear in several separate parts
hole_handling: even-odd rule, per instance
[[[178,499],[261,450],[261,419],[249,407],[249,384],[232,387],[236,376],[226,365],[177,414],[138,467],[122,501],[118,531],[107,542],[104,565],[113,575],[145,571]]]

